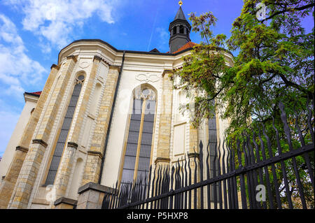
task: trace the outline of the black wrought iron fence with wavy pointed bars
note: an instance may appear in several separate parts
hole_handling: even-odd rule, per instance
[[[282,103],[279,108],[281,131],[273,123],[268,136],[262,124],[212,148],[200,141],[199,153],[151,166],[133,183],[116,183],[102,208],[314,208],[314,117],[307,106],[302,134],[297,114],[290,129]]]

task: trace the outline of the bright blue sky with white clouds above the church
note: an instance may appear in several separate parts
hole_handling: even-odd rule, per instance
[[[118,50],[169,51],[169,23],[179,0],[1,0],[0,157],[25,105],[24,92],[43,89],[59,51],[83,38],[99,38]],[[183,0],[183,12],[211,11],[214,34],[230,37],[242,0]],[[190,38],[200,43],[198,34]],[[234,53],[234,52],[233,52]]]

